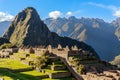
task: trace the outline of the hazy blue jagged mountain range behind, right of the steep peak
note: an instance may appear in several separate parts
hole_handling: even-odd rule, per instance
[[[112,60],[120,54],[116,27],[98,18],[47,18],[48,28],[60,36],[68,36],[91,45],[103,60]]]

